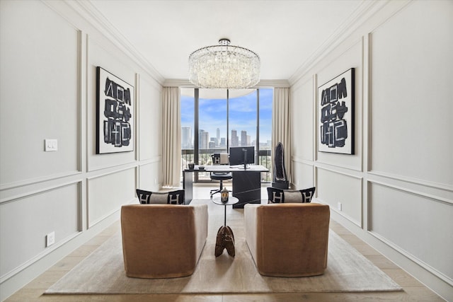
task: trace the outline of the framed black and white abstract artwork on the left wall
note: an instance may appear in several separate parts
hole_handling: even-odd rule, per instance
[[[96,68],[96,153],[134,151],[134,86]]]

